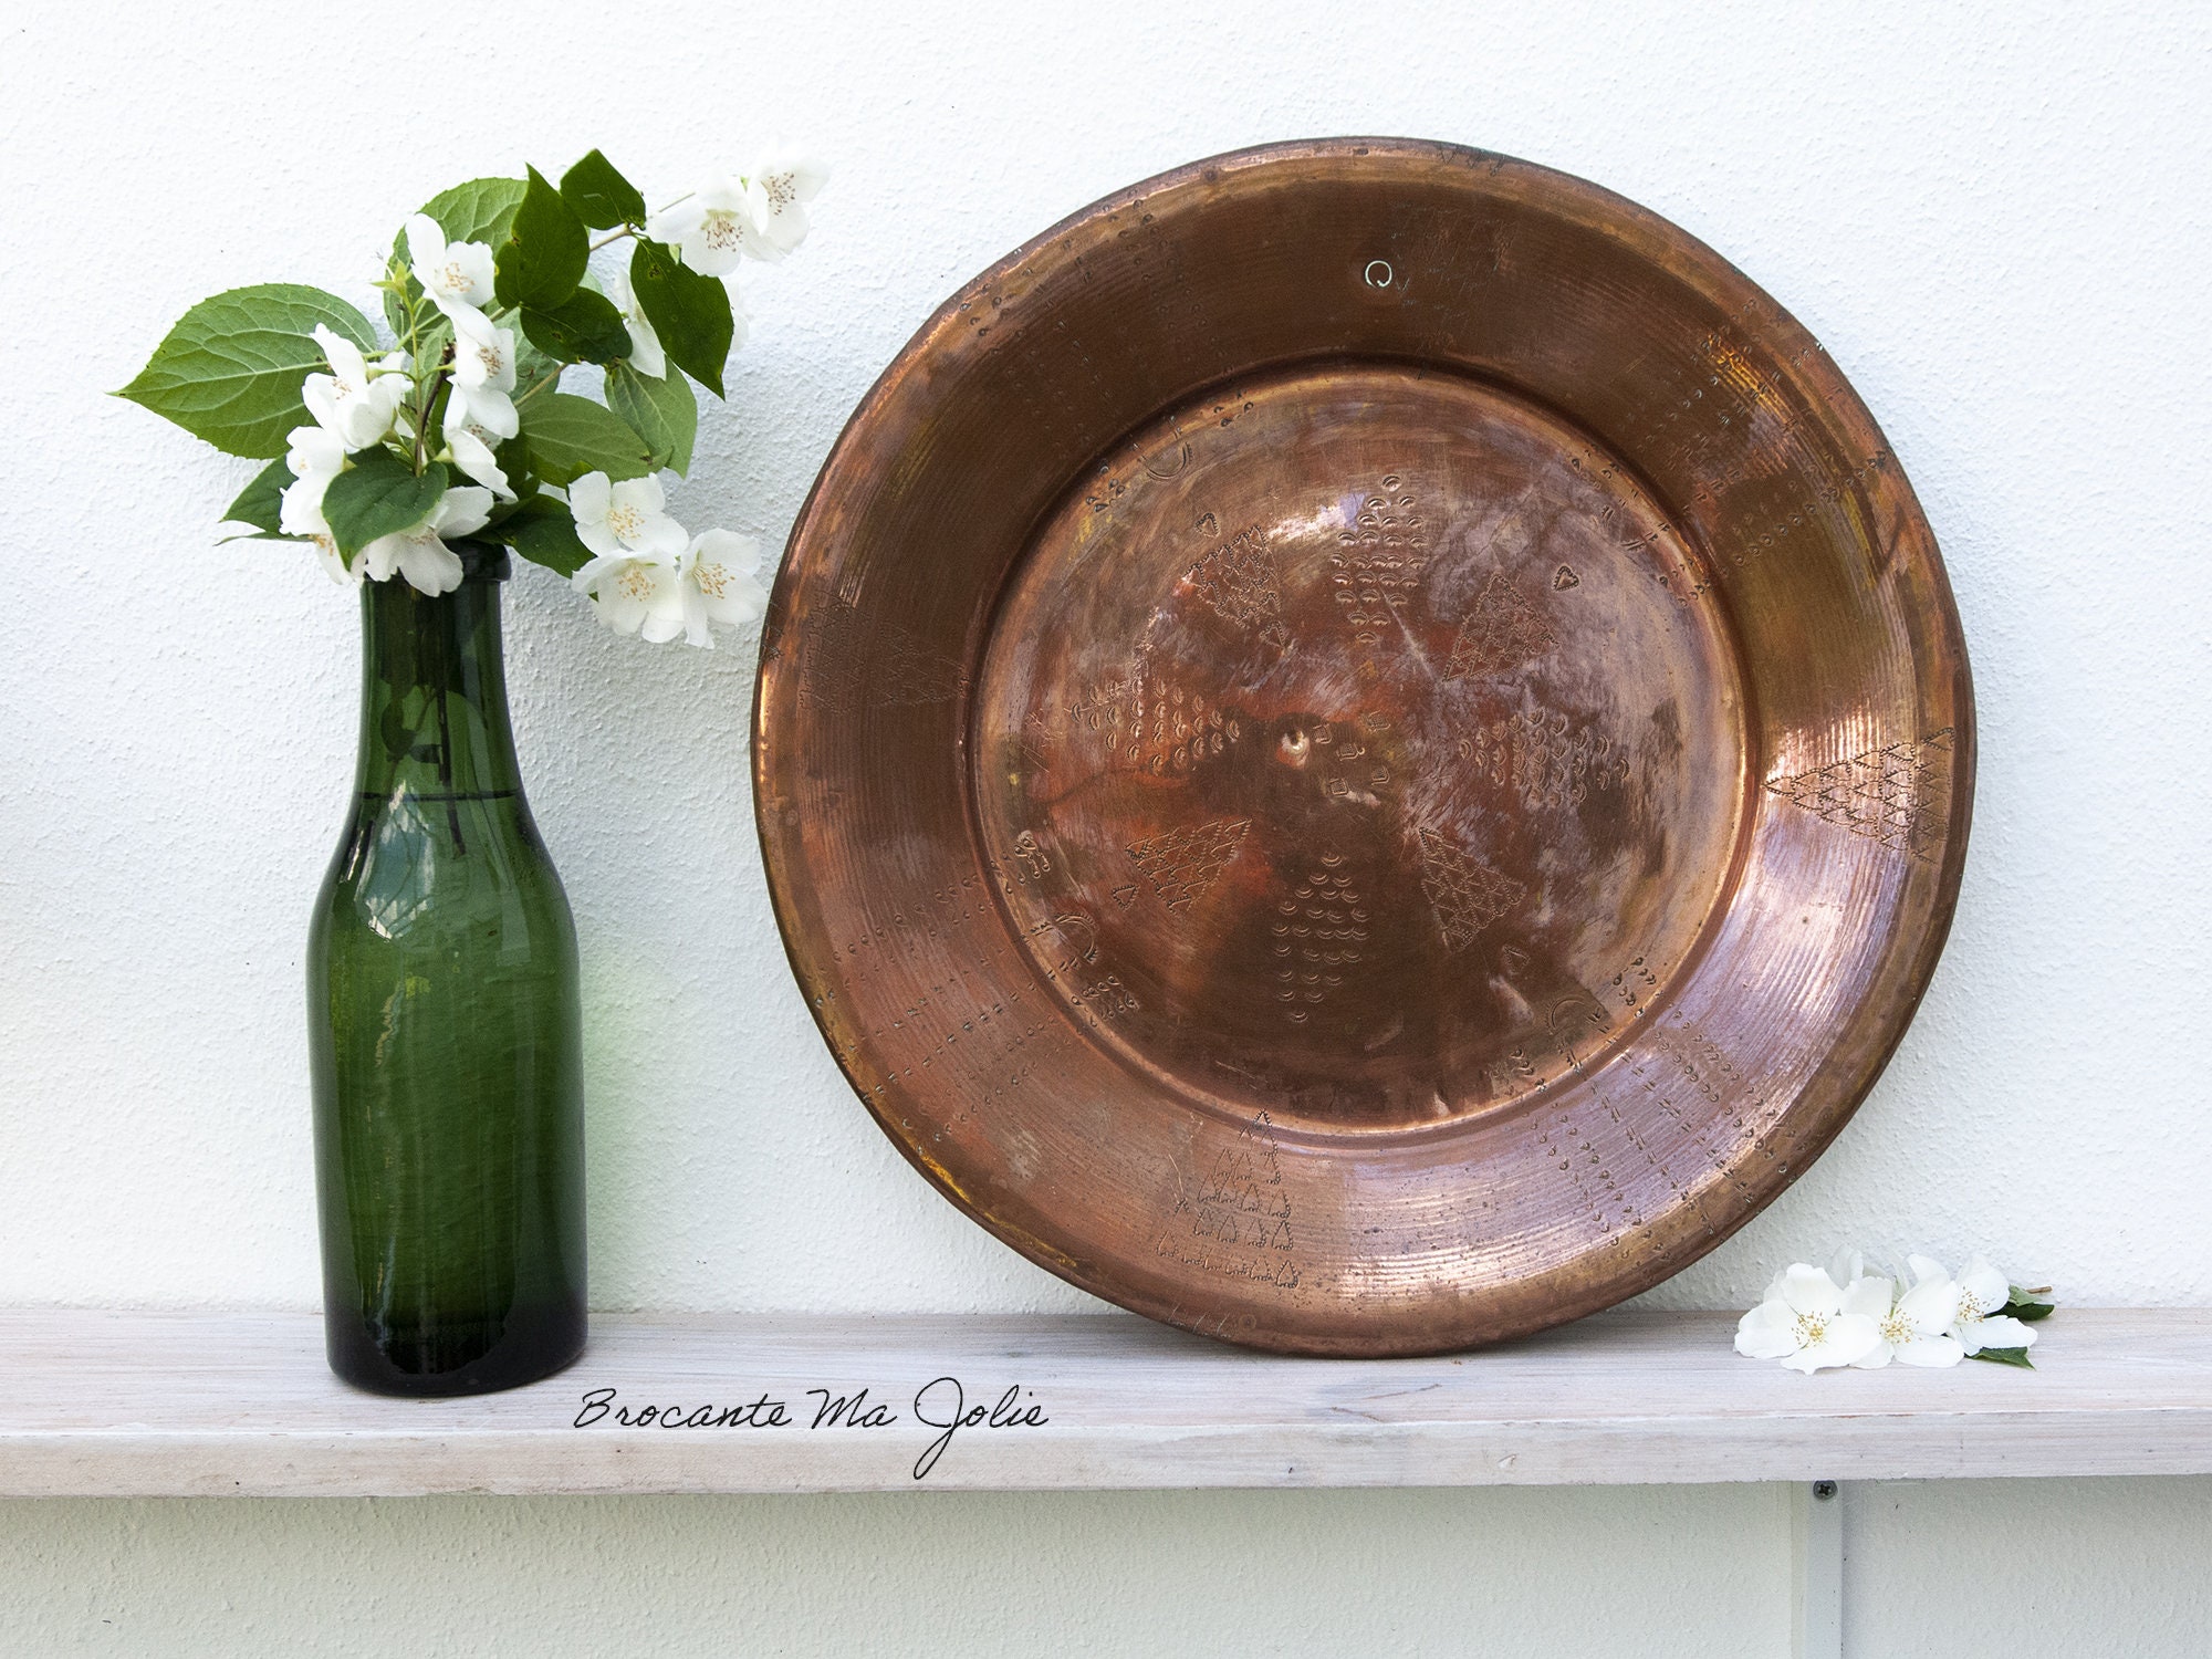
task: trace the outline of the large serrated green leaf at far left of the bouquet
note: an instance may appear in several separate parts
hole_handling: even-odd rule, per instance
[[[232,288],[188,310],[115,396],[232,456],[281,456],[285,434],[307,422],[301,380],[327,367],[316,323],[363,352],[376,349],[369,319],[336,294],[299,283]]]

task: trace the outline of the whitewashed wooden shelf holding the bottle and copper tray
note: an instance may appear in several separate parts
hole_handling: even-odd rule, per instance
[[[0,1495],[1460,1486],[2212,1473],[2212,1310],[2062,1310],[2039,1369],[1796,1376],[1728,1314],[1601,1314],[1475,1354],[1285,1360],[1130,1316],[597,1316],[529,1389],[385,1400],[310,1314],[0,1312]],[[942,1433],[916,1394],[1042,1425]],[[867,1389],[885,1427],[810,1427]],[[615,1409],[781,1427],[575,1427]],[[810,1394],[827,1389],[830,1394]],[[942,1422],[949,1385],[922,1400]],[[737,1411],[732,1411],[737,1409]],[[754,1409],[752,1418],[772,1416]]]

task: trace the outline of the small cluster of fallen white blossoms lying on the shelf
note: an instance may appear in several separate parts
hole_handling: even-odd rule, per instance
[[[1909,1256],[1902,1276],[1869,1274],[1840,1252],[1829,1270],[1794,1263],[1736,1323],[1736,1352],[1792,1371],[1880,1369],[1891,1360],[1949,1367],[1962,1358],[2033,1369],[2033,1325],[2055,1303],[2048,1285],[2020,1287],[1975,1256],[1955,1279],[1933,1256]]]

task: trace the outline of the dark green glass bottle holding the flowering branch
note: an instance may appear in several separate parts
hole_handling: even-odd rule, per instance
[[[584,1347],[575,922],[507,723],[507,551],[361,588],[354,807],[307,938],[330,1369],[482,1394]]]

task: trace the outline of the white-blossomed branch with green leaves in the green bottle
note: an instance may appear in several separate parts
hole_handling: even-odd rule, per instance
[[[657,473],[690,469],[690,383],[723,396],[745,343],[739,261],[799,248],[823,181],[779,157],[648,215],[597,150],[557,186],[535,168],[471,179],[392,246],[389,345],[334,294],[239,288],[186,312],[122,396],[268,460],[226,518],[314,546],[338,582],[445,593],[462,575],[449,542],[493,540],[571,577],[617,633],[712,646],[765,608],[759,542],[688,535]],[[595,276],[617,241],[628,265]],[[560,389],[582,363],[604,403]]]

